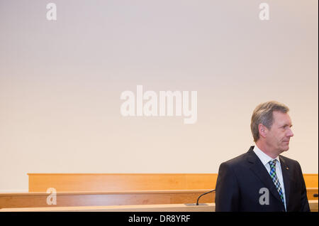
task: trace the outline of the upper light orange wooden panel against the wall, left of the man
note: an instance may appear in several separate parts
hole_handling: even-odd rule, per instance
[[[215,188],[216,173],[28,173],[29,192],[197,190]]]

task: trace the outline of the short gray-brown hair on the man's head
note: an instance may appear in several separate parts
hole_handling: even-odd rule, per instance
[[[259,104],[252,112],[252,122],[250,123],[250,129],[252,130],[252,136],[256,142],[259,139],[259,124],[263,124],[270,129],[274,122],[272,112],[289,112],[289,108],[276,101],[269,101]]]

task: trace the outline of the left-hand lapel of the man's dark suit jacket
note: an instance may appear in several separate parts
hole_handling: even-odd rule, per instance
[[[258,156],[254,153],[253,148],[254,146],[250,147],[250,150],[247,152],[247,161],[249,161],[251,164],[250,170],[254,172],[260,181],[262,181],[262,183],[264,183],[265,188],[269,188],[274,197],[276,197],[276,199],[282,203],[276,185],[274,185],[274,181],[272,181],[272,178],[270,177],[267,169],[264,167],[264,164],[262,164],[262,161],[260,161]]]

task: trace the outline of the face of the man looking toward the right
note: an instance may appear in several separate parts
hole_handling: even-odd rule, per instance
[[[273,112],[274,122],[268,129],[266,142],[276,154],[289,150],[289,141],[293,132],[291,131],[291,119],[289,114]]]

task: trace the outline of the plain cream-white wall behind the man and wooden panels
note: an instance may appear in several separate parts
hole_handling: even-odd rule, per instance
[[[0,1],[0,192],[26,173],[218,173],[288,105],[284,156],[318,173],[318,1]],[[259,20],[259,4],[270,20]],[[121,92],[191,91],[198,120],[122,117]]]

